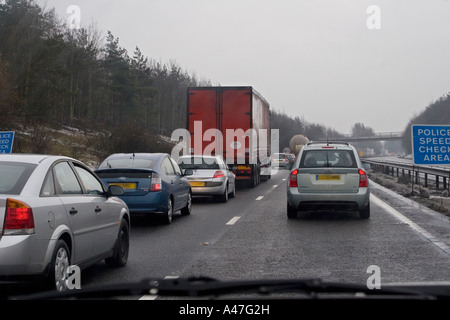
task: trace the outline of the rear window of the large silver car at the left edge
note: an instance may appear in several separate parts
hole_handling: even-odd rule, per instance
[[[0,162],[0,194],[19,195],[35,164],[20,162]]]

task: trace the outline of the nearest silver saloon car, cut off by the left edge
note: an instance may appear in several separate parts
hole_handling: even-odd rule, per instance
[[[0,155],[0,285],[39,278],[63,291],[68,267],[124,266],[130,216],[121,194],[72,158]]]

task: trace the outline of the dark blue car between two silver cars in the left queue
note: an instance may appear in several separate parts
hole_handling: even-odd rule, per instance
[[[107,157],[95,170],[106,186],[121,186],[120,198],[130,213],[163,216],[172,222],[174,212],[191,214],[189,181],[178,164],[166,153],[121,153]]]

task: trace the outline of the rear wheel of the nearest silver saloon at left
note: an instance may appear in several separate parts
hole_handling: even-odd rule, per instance
[[[50,261],[48,284],[51,289],[65,291],[67,289],[67,268],[70,266],[70,251],[64,240],[58,240]]]

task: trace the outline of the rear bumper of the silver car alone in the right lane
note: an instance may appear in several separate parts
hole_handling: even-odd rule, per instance
[[[299,211],[362,210],[369,205],[369,188],[359,188],[357,193],[299,193],[297,188],[288,188],[288,204]]]

